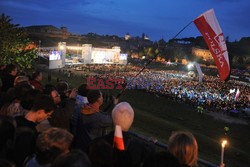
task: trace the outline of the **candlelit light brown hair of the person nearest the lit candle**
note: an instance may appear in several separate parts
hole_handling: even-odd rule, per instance
[[[190,132],[177,131],[168,140],[169,152],[176,156],[181,165],[195,166],[198,160],[198,144]]]

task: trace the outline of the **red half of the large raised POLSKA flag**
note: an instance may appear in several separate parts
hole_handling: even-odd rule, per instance
[[[208,24],[204,16],[200,16],[199,18],[194,20],[194,24],[197,26],[199,31],[201,32],[203,38],[205,39],[209,50],[214,58],[215,64],[218,68],[220,79],[225,80],[227,79],[229,75],[229,64],[227,63],[227,60],[225,59],[223,53],[225,52],[222,50],[219,46],[219,38],[224,35],[216,34],[211,26]]]

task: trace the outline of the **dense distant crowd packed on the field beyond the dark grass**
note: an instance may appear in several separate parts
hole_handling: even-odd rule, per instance
[[[196,77],[180,71],[144,70],[138,72],[113,72],[98,74],[98,78],[120,79],[126,89],[143,90],[156,96],[165,96],[171,100],[202,106],[208,111],[229,113],[250,107],[250,85],[229,80],[220,81],[218,77],[204,75],[199,82]],[[239,96],[236,96],[239,90]]]

